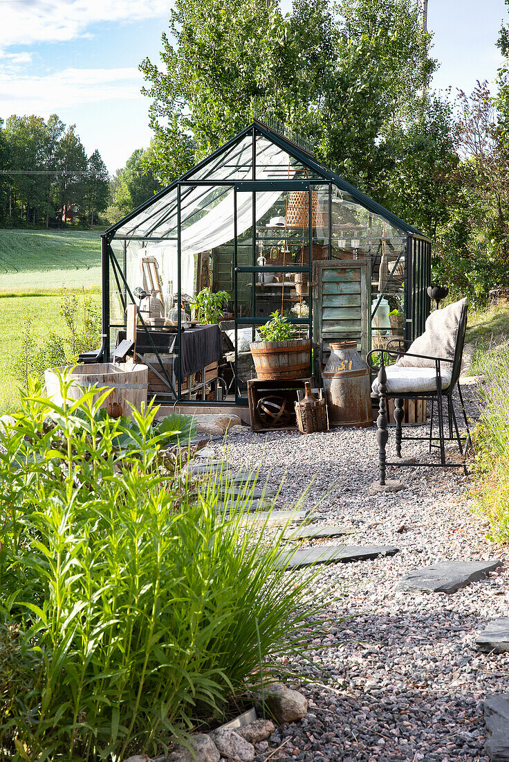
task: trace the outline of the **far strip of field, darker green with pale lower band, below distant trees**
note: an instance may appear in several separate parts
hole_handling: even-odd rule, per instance
[[[0,230],[0,293],[100,287],[100,234]]]

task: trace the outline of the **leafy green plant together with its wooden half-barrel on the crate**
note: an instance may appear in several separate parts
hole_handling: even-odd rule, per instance
[[[311,342],[308,338],[292,338],[288,318],[277,310],[269,322],[258,329],[261,341],[250,344],[259,379],[302,379],[310,376]]]

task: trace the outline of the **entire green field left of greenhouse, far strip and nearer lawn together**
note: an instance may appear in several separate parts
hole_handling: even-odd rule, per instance
[[[99,233],[0,230],[0,413],[17,403],[14,361],[21,353],[25,318],[32,319],[37,344],[50,331],[66,335],[59,290],[98,288],[100,282]]]

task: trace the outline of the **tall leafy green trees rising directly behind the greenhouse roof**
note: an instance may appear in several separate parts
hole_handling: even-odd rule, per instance
[[[177,0],[162,42],[164,67],[141,69],[164,181],[263,113],[380,197],[391,136],[418,115],[434,69],[414,0],[296,0],[285,17],[266,0]]]

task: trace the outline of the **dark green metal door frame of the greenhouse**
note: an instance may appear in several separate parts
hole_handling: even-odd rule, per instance
[[[238,362],[238,341],[237,341],[237,331],[239,328],[256,328],[259,325],[264,325],[267,320],[266,319],[257,319],[256,315],[254,314],[255,305],[256,305],[256,289],[255,289],[255,282],[258,275],[263,275],[265,273],[306,273],[308,277],[308,282],[311,283],[312,280],[312,268],[313,268],[313,227],[311,225],[311,221],[313,219],[312,217],[312,194],[311,191],[313,190],[313,185],[323,185],[327,184],[329,186],[329,199],[330,199],[330,184],[326,181],[313,181],[313,180],[274,180],[274,181],[238,181],[235,182],[234,185],[234,322],[235,322],[235,404],[236,405],[247,405],[248,399],[247,396],[243,395],[239,391],[239,384],[238,384],[238,378],[239,378],[239,362]],[[256,240],[256,194],[267,192],[267,191],[281,191],[284,193],[285,191],[306,191],[307,192],[307,247],[308,247],[308,265],[259,265],[256,261],[257,259],[257,240]],[[250,242],[250,248],[251,248],[251,264],[250,265],[242,265],[238,264],[238,255],[237,255],[237,243],[238,243],[238,234],[237,234],[237,194],[238,193],[251,193],[251,199],[252,199],[252,207],[253,207],[253,225],[251,226],[251,242]],[[330,218],[329,218],[330,220]],[[330,241],[330,221],[329,221],[329,241]],[[245,242],[244,242],[245,245]],[[248,315],[247,317],[240,317],[239,316],[239,309],[238,309],[238,275],[241,273],[251,273],[253,274],[253,281],[252,281],[252,301],[251,301],[251,315]],[[310,289],[311,293],[311,289]],[[309,315],[307,318],[288,318],[288,322],[290,322],[292,325],[300,325],[303,327],[307,327],[310,335],[310,346],[313,346],[313,338],[312,338],[312,330],[313,330],[313,307],[312,307],[312,299],[310,297],[310,308],[309,308]],[[310,363],[311,363],[311,354],[312,351],[310,350]]]

